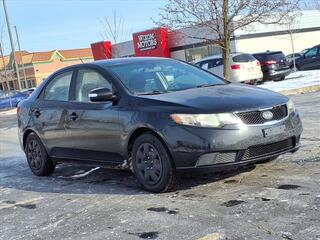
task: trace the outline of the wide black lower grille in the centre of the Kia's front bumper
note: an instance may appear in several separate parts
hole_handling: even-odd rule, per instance
[[[270,143],[266,145],[249,147],[247,150],[245,150],[242,160],[249,160],[252,158],[271,155],[274,153],[291,149],[293,147],[294,147],[293,138],[288,138],[280,142]]]

